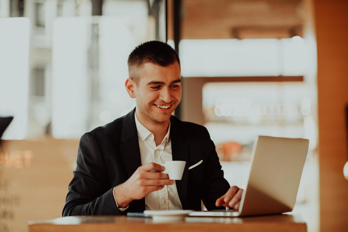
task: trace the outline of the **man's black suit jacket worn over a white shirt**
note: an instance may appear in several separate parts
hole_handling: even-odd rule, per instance
[[[141,166],[135,109],[103,127],[84,134],[79,143],[77,168],[69,184],[63,216],[122,215],[145,210],[145,198],[129,203],[125,212],[117,209],[113,187],[125,182]],[[207,129],[171,117],[173,160],[186,161],[177,193],[183,209],[217,209],[215,201],[230,185],[223,178],[214,143]],[[188,168],[200,160],[203,163]],[[220,207],[221,208],[221,207]]]

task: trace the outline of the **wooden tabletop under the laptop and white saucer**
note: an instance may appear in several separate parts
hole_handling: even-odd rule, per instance
[[[127,216],[72,216],[29,221],[29,232],[56,231],[282,231],[305,232],[307,225],[298,214],[259,217],[186,217],[180,222],[153,222],[151,218]]]

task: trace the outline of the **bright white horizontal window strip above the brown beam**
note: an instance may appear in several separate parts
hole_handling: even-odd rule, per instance
[[[184,39],[179,50],[183,77],[295,76],[304,75],[309,67],[307,47],[299,36]]]

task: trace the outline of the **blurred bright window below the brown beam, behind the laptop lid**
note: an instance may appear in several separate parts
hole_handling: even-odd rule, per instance
[[[258,135],[309,138],[316,127],[307,87],[302,82],[229,82],[203,86],[207,127],[222,160],[250,160]]]

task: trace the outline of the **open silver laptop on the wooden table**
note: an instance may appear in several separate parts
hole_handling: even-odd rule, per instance
[[[237,211],[196,211],[189,216],[252,216],[293,210],[308,152],[308,139],[258,136],[246,190]]]

